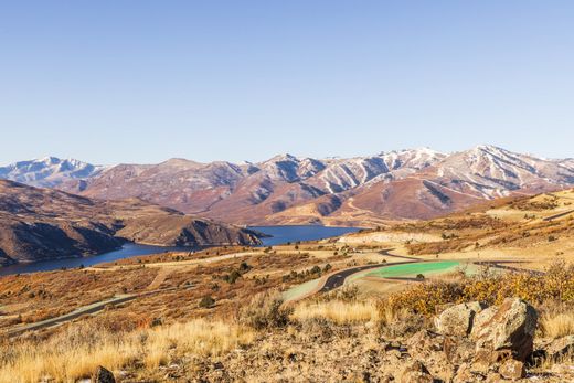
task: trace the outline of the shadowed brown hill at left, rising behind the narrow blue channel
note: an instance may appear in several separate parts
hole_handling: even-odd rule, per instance
[[[0,180],[0,265],[97,254],[126,240],[196,246],[256,244],[254,233],[139,200],[102,202]]]

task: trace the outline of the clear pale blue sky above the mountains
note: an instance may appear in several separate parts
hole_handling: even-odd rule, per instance
[[[2,1],[0,163],[574,157],[574,2]]]

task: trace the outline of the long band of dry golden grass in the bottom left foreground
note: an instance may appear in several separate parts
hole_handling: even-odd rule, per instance
[[[81,325],[47,341],[0,347],[0,382],[75,382],[89,377],[98,365],[117,370],[137,360],[151,370],[171,355],[217,355],[253,339],[251,330],[203,319],[128,333]]]

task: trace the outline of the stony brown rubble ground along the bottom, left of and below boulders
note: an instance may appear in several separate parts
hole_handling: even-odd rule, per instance
[[[501,308],[493,306],[489,311],[496,313]],[[410,321],[408,317],[401,317],[397,323]],[[194,357],[190,361],[196,365],[193,371],[174,366],[173,372],[162,370],[158,380],[170,371],[170,376],[181,381],[204,382],[574,382],[574,371],[565,364],[560,370],[531,369],[528,379],[523,377],[524,368],[529,369],[530,362],[512,358],[489,362],[482,369],[476,362],[470,334],[445,336],[424,323],[411,336],[394,330],[389,331],[393,336],[383,334],[375,326],[338,326],[325,320],[291,322],[287,329],[265,331],[251,347],[228,354],[208,360]]]

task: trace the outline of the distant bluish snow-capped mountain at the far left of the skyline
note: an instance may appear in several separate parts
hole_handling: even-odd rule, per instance
[[[54,188],[68,180],[83,180],[102,173],[105,167],[74,159],[45,157],[0,167],[0,179],[33,187]]]

